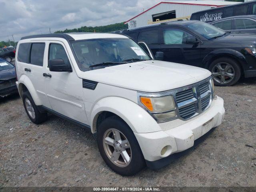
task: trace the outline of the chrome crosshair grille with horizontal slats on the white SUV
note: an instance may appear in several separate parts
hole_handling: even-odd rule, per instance
[[[175,99],[180,118],[189,119],[200,114],[212,101],[210,78],[177,90]]]

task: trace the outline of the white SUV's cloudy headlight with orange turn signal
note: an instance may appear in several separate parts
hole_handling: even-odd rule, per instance
[[[139,102],[158,120],[166,120],[177,116],[176,105],[172,95],[159,97],[140,96]]]

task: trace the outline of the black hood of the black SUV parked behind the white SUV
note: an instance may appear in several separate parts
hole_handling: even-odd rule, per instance
[[[225,42],[233,44],[256,44],[256,35],[255,34],[243,34],[243,33],[230,33],[220,38],[216,38],[215,42]]]

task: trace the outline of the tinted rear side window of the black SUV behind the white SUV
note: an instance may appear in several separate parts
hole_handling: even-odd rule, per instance
[[[138,42],[143,41],[146,44],[158,44],[158,30],[142,31],[139,33]]]

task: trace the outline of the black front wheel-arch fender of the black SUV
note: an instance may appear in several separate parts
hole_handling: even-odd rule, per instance
[[[207,54],[204,59],[202,60],[202,66],[203,68],[208,69],[210,66],[210,63],[214,60],[214,58],[220,58],[220,57],[231,57],[234,58],[235,60],[238,60],[240,64],[242,65],[242,68],[246,68],[248,65],[246,58],[244,55],[236,50],[233,49],[216,49]]]

